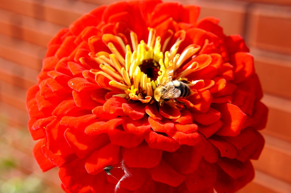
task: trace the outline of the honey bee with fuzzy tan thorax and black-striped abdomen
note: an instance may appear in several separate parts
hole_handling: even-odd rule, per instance
[[[187,85],[189,82],[186,79],[172,81],[173,71],[172,66],[167,67],[154,91],[154,98],[160,106],[163,106],[164,100],[187,97],[192,94],[190,87]]]

